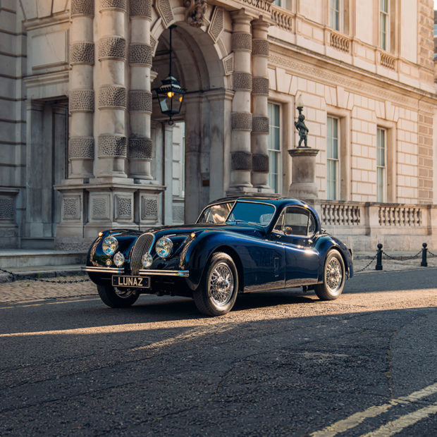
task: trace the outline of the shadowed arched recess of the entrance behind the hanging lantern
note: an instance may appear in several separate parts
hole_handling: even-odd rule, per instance
[[[178,20],[180,18],[180,20]],[[173,22],[173,75],[186,88],[181,113],[175,121],[185,123],[185,152],[182,178],[184,192],[178,193],[173,169],[178,168],[173,153],[173,129],[162,116],[156,99],[153,101],[152,140],[154,140],[155,178],[166,185],[164,223],[191,222],[210,199],[222,197],[227,189],[230,149],[230,97],[223,66],[223,52],[204,27],[187,25],[183,16]],[[152,89],[159,87],[169,70],[169,30],[163,20],[152,26],[154,57]],[[228,121],[229,120],[229,121]],[[175,130],[176,133],[176,130]],[[176,149],[175,149],[176,147]],[[211,166],[214,163],[214,168]],[[181,197],[185,195],[184,197]],[[182,207],[184,213],[182,214]]]

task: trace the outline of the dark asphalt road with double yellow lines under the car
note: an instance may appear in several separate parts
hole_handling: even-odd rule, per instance
[[[0,436],[435,436],[436,307],[432,268],[219,318],[177,297],[2,304]]]

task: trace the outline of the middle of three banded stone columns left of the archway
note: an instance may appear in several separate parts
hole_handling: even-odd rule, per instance
[[[99,0],[97,176],[126,178],[126,0]]]

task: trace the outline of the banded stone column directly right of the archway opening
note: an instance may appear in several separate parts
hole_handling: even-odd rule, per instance
[[[229,192],[244,192],[252,188],[252,153],[250,133],[252,132],[252,113],[250,93],[252,91],[251,54],[252,18],[244,10],[231,13],[233,20],[232,49],[234,52],[233,90],[231,114],[231,161]]]

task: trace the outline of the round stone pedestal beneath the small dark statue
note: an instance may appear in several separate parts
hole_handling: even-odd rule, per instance
[[[293,159],[291,185],[288,196],[297,199],[317,199],[316,156],[318,149],[297,148],[288,150]]]

